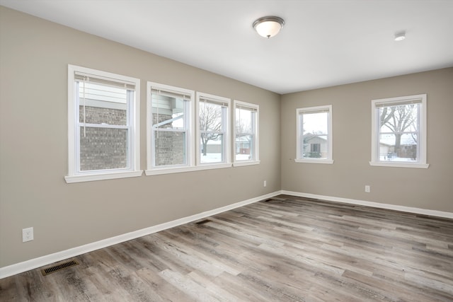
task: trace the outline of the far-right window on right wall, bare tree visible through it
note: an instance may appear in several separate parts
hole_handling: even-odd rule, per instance
[[[426,94],[372,100],[370,165],[428,168]]]

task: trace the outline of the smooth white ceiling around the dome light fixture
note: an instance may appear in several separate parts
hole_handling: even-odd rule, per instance
[[[453,0],[0,4],[281,94],[453,66]],[[279,35],[253,30],[263,16],[285,19]]]

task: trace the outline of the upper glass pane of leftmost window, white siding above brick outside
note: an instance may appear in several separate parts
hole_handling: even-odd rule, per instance
[[[79,82],[79,122],[127,125],[127,90]]]

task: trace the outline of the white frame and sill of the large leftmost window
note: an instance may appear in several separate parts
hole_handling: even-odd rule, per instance
[[[117,169],[81,171],[79,168],[79,102],[76,98],[75,74],[86,74],[96,79],[113,81],[134,86],[134,96],[128,102],[128,167]],[[67,183],[130,178],[142,175],[140,170],[140,121],[139,121],[140,80],[130,76],[68,65],[68,175]]]

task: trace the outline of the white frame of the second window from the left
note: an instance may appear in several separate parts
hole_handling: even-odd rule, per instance
[[[154,132],[152,129],[152,90],[166,91],[179,95],[187,95],[188,107],[185,112],[185,164],[183,165],[154,165]],[[194,108],[195,108],[195,91],[176,86],[169,86],[161,83],[147,82],[147,170],[146,175],[160,175],[167,173],[180,173],[196,170],[193,154],[195,153],[193,124],[194,124]]]

